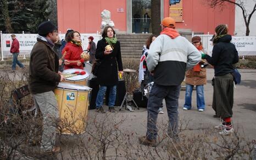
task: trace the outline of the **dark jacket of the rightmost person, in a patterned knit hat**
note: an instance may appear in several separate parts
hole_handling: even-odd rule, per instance
[[[230,43],[231,35],[224,35],[213,46],[212,57],[206,56],[208,63],[214,66],[214,75],[225,75],[234,71],[233,65],[239,61],[235,45]]]

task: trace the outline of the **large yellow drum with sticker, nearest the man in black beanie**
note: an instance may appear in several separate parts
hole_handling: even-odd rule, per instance
[[[59,83],[54,93],[58,101],[60,132],[81,134],[85,132],[91,88],[76,84]]]

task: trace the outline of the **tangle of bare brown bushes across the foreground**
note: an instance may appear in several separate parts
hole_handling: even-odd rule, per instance
[[[137,78],[131,80],[137,82]],[[10,92],[26,83],[27,70],[16,74],[8,69],[0,72],[0,159],[252,159],[255,141],[248,141],[237,132],[224,137],[210,128],[189,128],[191,120],[181,119],[180,140],[174,140],[168,135],[168,122],[162,121],[158,122],[157,146],[148,147],[138,144],[140,134],[125,127],[129,118],[124,114],[94,111],[84,121],[86,128],[82,132],[73,131],[75,122],[65,118],[60,123],[56,121],[61,152],[44,155],[40,144],[29,143],[34,135],[40,137],[31,132],[42,127],[41,118],[15,111],[15,107],[10,110]],[[24,97],[22,104],[22,111],[29,109],[32,97]],[[64,128],[70,129],[69,135],[62,134]]]

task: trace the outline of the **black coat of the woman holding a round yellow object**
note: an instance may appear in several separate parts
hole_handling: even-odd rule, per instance
[[[104,38],[97,43],[96,59],[99,59],[101,63],[97,69],[97,82],[102,86],[114,86],[118,84],[118,70],[123,70],[120,42],[118,41],[113,45],[114,49],[111,54],[104,55],[107,45],[108,43]]]

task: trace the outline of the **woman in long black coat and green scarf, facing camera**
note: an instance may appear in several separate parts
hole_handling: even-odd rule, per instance
[[[100,87],[96,98],[96,109],[98,112],[105,113],[102,104],[107,87],[109,87],[109,112],[115,112],[118,75],[123,74],[120,42],[116,40],[115,31],[110,26],[103,29],[102,37],[96,49],[96,59],[100,64],[97,68],[97,82]]]

